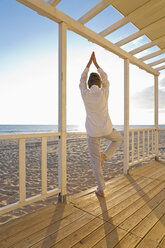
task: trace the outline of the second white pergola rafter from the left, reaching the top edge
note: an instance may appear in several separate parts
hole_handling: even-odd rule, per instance
[[[80,17],[78,19],[78,22],[80,22],[82,24],[85,24],[85,23],[89,22],[92,18],[94,18],[97,14],[99,14],[104,9],[106,9],[113,2],[114,2],[114,0],[102,0],[95,7],[90,9],[85,15]]]

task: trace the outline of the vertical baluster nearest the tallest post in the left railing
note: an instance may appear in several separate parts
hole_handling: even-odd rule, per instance
[[[42,174],[42,194],[46,195],[47,193],[47,137],[42,137],[41,174]]]

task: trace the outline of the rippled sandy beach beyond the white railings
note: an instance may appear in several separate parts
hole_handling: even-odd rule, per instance
[[[123,136],[123,132],[121,132]],[[160,152],[165,153],[165,131],[160,135]],[[102,140],[101,151],[108,141]],[[58,138],[48,138],[48,190],[58,185]],[[123,143],[111,161],[105,160],[103,175],[105,181],[123,173]],[[145,162],[146,163],[146,162]],[[143,164],[145,164],[143,163]],[[139,166],[139,165],[136,165]],[[136,167],[134,166],[134,167]],[[41,139],[26,141],[26,187],[27,197],[41,193]],[[76,194],[96,186],[88,153],[86,134],[67,134],[67,191]],[[19,150],[18,140],[0,141],[0,207],[18,201],[19,195]],[[57,197],[39,201],[21,209],[0,216],[0,224],[21,215],[36,211],[47,204],[55,204]]]

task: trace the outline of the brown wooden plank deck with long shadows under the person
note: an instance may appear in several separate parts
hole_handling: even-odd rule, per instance
[[[1,248],[165,248],[165,163],[152,162],[0,227]]]

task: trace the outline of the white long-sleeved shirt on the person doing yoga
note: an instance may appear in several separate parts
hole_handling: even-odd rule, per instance
[[[109,81],[107,74],[97,69],[102,80],[102,88],[93,85],[87,88],[89,68],[85,68],[80,79],[80,91],[86,109],[86,131],[91,137],[101,137],[112,132],[113,126],[108,113]]]

